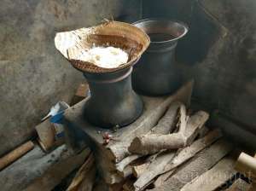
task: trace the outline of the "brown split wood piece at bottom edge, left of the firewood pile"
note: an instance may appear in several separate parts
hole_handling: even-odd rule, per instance
[[[95,159],[92,153],[90,153],[90,156],[86,159],[84,165],[80,167],[76,176],[73,178],[73,181],[67,188],[67,191],[90,191],[96,177],[96,168],[94,164]]]

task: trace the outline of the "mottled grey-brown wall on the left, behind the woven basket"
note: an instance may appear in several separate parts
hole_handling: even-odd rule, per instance
[[[1,0],[0,155],[29,139],[57,101],[71,100],[84,78],[59,54],[55,32],[104,18],[135,21],[138,0]]]

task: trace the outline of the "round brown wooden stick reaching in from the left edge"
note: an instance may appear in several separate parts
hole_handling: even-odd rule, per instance
[[[15,150],[11,151],[10,153],[6,154],[0,159],[0,171],[3,170],[6,166],[10,165],[11,163],[15,162],[16,159],[19,159],[25,153],[29,152],[34,148],[34,143],[29,141],[22,145],[19,148],[15,148]]]

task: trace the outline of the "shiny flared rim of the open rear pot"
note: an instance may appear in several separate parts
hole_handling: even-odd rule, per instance
[[[167,20],[165,18],[146,18],[143,20],[137,20],[136,22],[133,22],[132,25],[136,26],[138,23],[142,23],[142,22],[146,22],[146,21],[165,21],[165,22],[172,22],[172,23],[177,23],[180,26],[183,26],[184,28],[184,32],[179,35],[177,38],[172,38],[170,40],[165,40],[165,41],[151,41],[150,43],[152,44],[160,44],[160,43],[171,43],[171,42],[175,42],[180,38],[183,38],[188,32],[189,32],[189,26],[187,24],[185,24],[183,21],[179,21],[179,20]],[[138,27],[138,26],[137,26]],[[140,27],[138,27],[140,28]],[[147,32],[146,32],[147,33]],[[148,34],[148,33],[147,33]]]

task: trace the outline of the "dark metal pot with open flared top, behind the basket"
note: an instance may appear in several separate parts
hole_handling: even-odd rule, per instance
[[[151,38],[149,48],[134,67],[132,86],[138,93],[147,96],[170,94],[181,85],[181,75],[175,61],[177,40],[188,27],[170,20],[147,19],[134,23]]]

